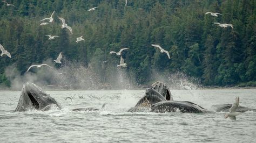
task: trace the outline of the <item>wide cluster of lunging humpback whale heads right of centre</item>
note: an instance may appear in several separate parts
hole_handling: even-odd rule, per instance
[[[188,101],[173,101],[170,89],[163,82],[155,82],[146,89],[145,96],[128,112],[207,112],[201,106]]]

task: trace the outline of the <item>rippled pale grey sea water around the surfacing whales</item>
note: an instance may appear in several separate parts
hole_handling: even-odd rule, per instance
[[[130,113],[145,90],[46,91],[62,110],[12,112],[20,91],[0,91],[0,142],[255,142],[256,112]],[[256,109],[255,89],[171,90],[174,100]],[[75,96],[72,101],[66,97]],[[80,96],[80,98],[79,98]],[[104,109],[101,106],[106,103]],[[71,111],[75,108],[100,111]]]

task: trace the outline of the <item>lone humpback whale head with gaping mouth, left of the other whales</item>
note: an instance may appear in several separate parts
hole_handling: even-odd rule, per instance
[[[14,112],[40,110],[47,111],[51,108],[60,109],[60,105],[50,95],[36,84],[27,82],[23,85],[17,108]]]

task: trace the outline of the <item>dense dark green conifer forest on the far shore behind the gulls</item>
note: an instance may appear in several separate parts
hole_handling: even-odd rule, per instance
[[[31,64],[56,59],[59,52],[66,61],[95,65],[94,73],[105,82],[120,60],[109,52],[124,47],[130,49],[123,53],[128,65],[123,70],[140,84],[158,71],[181,72],[203,85],[256,85],[256,0],[128,0],[127,6],[125,0],[6,2],[17,8],[0,3],[0,44],[12,55],[0,57],[3,85],[10,85],[6,67],[15,65],[24,75]],[[53,23],[39,26],[53,11]],[[208,11],[223,16],[205,15]],[[58,17],[73,34],[61,28]],[[48,40],[48,34],[59,37]],[[81,35],[85,41],[76,43]],[[169,51],[171,59],[151,44]]]

